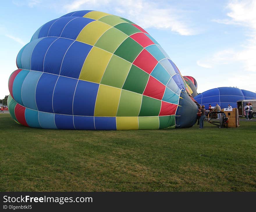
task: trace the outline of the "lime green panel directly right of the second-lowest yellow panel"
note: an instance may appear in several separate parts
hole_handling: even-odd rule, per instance
[[[116,116],[138,116],[142,95],[122,90]]]

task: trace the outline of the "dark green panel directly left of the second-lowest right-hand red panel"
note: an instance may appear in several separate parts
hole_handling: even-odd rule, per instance
[[[148,73],[139,69],[135,65],[132,65],[128,73],[128,76],[125,80],[123,89],[133,91],[138,94],[143,94],[145,87],[147,85],[148,78]]]

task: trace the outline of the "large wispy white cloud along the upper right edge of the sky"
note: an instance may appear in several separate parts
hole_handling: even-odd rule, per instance
[[[245,71],[256,72],[256,1],[230,1],[226,8],[229,10],[226,14],[227,18],[213,21],[242,26],[248,39],[239,50],[221,50],[210,55],[209,58],[198,60],[197,64],[204,68],[212,68],[216,65],[242,62]]]

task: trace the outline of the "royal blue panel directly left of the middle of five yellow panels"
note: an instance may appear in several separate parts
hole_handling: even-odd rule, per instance
[[[61,66],[61,76],[79,78],[83,63],[93,46],[75,41],[67,50]]]

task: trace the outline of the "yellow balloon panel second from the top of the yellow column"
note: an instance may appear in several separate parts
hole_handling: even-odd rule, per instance
[[[77,36],[77,41],[94,46],[99,37],[111,27],[101,21],[92,21],[81,30]]]

